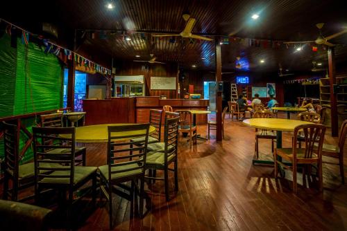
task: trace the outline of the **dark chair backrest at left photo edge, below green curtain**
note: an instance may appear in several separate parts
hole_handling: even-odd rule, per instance
[[[19,170],[19,136],[18,128],[15,124],[3,122],[3,147],[4,160],[3,168],[13,178],[18,178]]]

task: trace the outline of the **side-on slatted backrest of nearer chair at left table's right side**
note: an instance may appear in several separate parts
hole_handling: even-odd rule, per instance
[[[165,128],[164,128],[164,143],[165,143],[164,163],[165,164],[167,163],[167,160],[171,157],[171,155],[177,156],[179,121],[180,121],[179,116],[176,116],[175,118],[165,119]]]

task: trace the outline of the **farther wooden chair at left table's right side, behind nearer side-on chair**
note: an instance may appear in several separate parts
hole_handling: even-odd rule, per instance
[[[149,135],[148,143],[152,144],[154,142],[160,142],[162,136],[162,110],[150,109],[149,110],[149,123],[151,126],[155,127],[155,131]],[[135,138],[133,141],[139,142],[144,140],[146,137]]]

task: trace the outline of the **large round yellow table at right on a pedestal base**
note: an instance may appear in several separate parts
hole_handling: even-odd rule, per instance
[[[256,129],[273,130],[276,132],[277,148],[282,148],[282,131],[294,131],[295,127],[302,124],[314,124],[313,122],[307,122],[302,120],[287,120],[278,118],[253,118],[246,119],[242,122],[249,127]],[[268,160],[253,160],[253,163],[266,163],[273,164],[273,161]]]

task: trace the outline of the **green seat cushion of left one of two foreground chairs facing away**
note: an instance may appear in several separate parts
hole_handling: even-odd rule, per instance
[[[89,177],[91,174],[96,172],[97,167],[89,167],[89,166],[75,166],[74,169],[74,185],[83,181],[85,178]],[[62,176],[68,175],[69,170],[67,171],[54,171],[50,175],[53,176]],[[69,184],[69,178],[42,178],[40,183],[56,183],[56,184]]]

